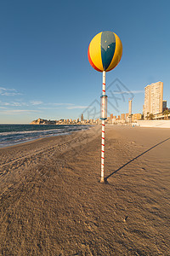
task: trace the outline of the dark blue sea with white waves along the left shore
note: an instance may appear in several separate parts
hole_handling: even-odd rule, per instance
[[[0,148],[88,128],[89,125],[0,125]]]

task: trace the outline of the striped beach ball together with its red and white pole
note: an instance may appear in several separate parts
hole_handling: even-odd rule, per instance
[[[105,72],[111,71],[122,58],[122,42],[114,32],[99,32],[88,46],[88,61],[95,70],[103,72],[101,96],[102,140],[101,140],[101,183],[105,182],[105,119],[107,119],[107,96],[105,95]]]

